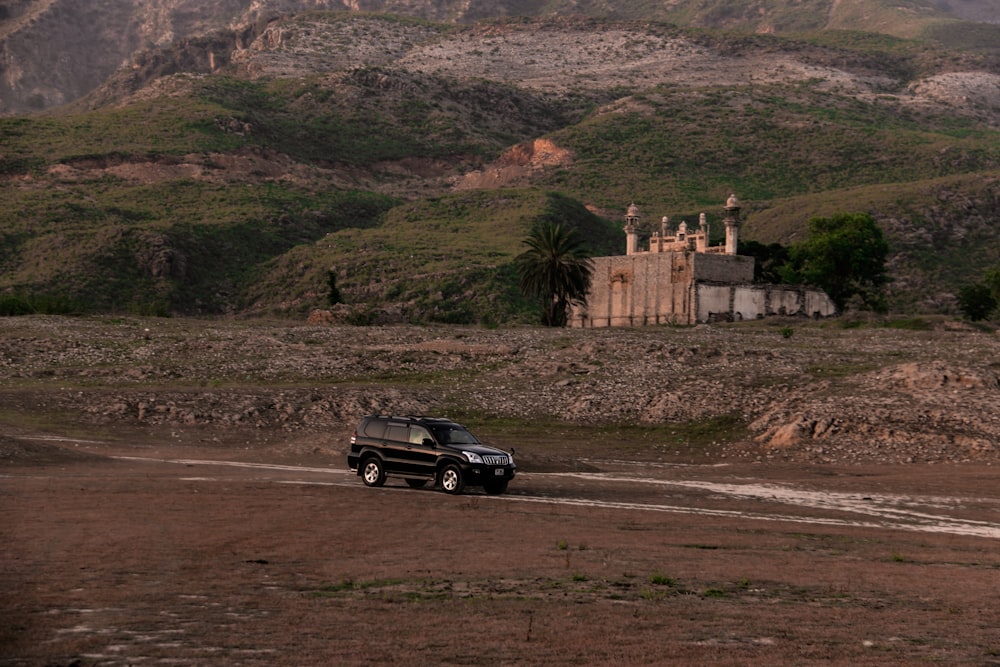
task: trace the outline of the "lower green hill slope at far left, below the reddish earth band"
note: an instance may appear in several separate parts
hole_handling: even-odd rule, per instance
[[[377,225],[394,203],[364,192],[188,180],[10,194],[0,212],[0,289],[47,295],[50,307],[36,312],[59,312],[51,302],[61,300],[143,315],[231,308],[275,256],[337,229]],[[283,282],[264,287],[294,297]]]

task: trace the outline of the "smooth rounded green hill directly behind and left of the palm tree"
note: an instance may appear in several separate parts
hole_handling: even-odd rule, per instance
[[[328,234],[268,263],[249,290],[248,308],[268,312],[274,294],[289,308],[322,304],[327,274],[355,308],[356,321],[395,317],[435,322],[534,322],[536,304],[517,289],[513,258],[540,222],[573,228],[593,256],[621,252],[624,233],[563,195],[481,190],[392,209],[383,224]]]

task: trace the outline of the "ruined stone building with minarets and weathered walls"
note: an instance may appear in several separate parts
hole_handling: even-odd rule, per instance
[[[587,305],[574,307],[573,327],[621,327],[647,324],[696,324],[738,321],[772,315],[829,317],[836,307],[818,288],[753,282],[753,257],[736,254],[740,203],[725,206],[726,241],[709,245],[701,214],[697,229],[681,222],[676,230],[664,217],[648,250],[639,249],[639,209],[625,215],[626,254],[595,257]]]

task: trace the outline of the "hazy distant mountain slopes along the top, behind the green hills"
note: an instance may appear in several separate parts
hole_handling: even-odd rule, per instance
[[[917,36],[934,22],[957,22],[958,17],[1000,23],[991,0],[936,0],[936,4],[911,0],[893,10],[871,0],[745,6],[724,0],[652,4],[563,0],[541,7],[525,0],[13,0],[0,8],[0,113],[25,113],[72,101],[122,65],[141,67],[148,58],[139,55],[143,51],[183,45],[219,31],[225,31],[229,45],[213,48],[213,53],[225,62],[228,51],[238,48],[241,34],[259,30],[275,17],[316,9],[388,12],[452,23],[582,15],[750,32],[837,28],[905,37]]]

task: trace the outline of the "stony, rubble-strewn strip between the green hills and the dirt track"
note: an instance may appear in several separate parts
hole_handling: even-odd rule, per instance
[[[519,447],[498,424],[550,424],[570,439],[601,429],[609,456],[692,456],[690,434],[707,429],[702,458],[1000,461],[996,332],[947,320],[910,326],[2,318],[0,415],[8,433],[188,429],[205,442],[245,438],[290,452],[339,451],[360,416],[381,412],[458,414]],[[616,425],[626,429],[618,440]],[[625,441],[639,427],[637,453]],[[5,455],[16,452],[8,442]]]

